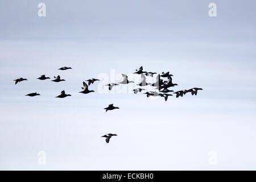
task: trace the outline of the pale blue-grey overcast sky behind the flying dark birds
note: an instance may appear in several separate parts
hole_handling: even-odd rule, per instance
[[[208,15],[210,2],[217,17]],[[256,169],[255,7],[0,0],[0,169]],[[138,81],[131,73],[141,65],[170,71],[173,90],[204,90],[167,102],[127,93],[132,84],[102,91],[121,73]],[[67,81],[36,80],[43,74]],[[28,81],[15,85],[19,77]],[[101,78],[89,86],[97,92],[79,93],[93,77]],[[55,98],[61,90],[72,97]],[[31,92],[41,96],[24,96]],[[109,104],[121,109],[105,113]],[[108,133],[118,134],[109,144],[101,138]]]

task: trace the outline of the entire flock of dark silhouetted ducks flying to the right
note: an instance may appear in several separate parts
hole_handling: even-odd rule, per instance
[[[71,67],[62,67],[60,68],[59,70],[61,71],[65,71],[65,70],[68,70],[68,69],[72,69]],[[202,88],[191,88],[191,89],[187,89],[187,90],[179,90],[179,91],[176,91],[174,92],[174,90],[169,90],[168,88],[171,88],[171,87],[174,87],[176,86],[177,84],[174,84],[172,82],[172,76],[170,74],[170,72],[162,72],[162,74],[158,74],[158,73],[155,73],[155,72],[146,72],[146,71],[143,71],[143,67],[140,67],[139,69],[136,69],[134,74],[138,74],[138,75],[141,75],[141,82],[139,82],[137,84],[137,86],[152,86],[153,88],[157,89],[158,92],[156,91],[149,91],[149,92],[144,92],[143,94],[146,94],[147,97],[164,97],[164,100],[167,101],[168,100],[168,97],[169,96],[172,96],[172,94],[170,93],[173,93],[173,94],[176,94],[176,98],[178,97],[183,97],[185,94],[187,93],[191,93],[192,96],[193,95],[197,95],[197,92],[198,90],[203,90]],[[153,77],[154,75],[157,75],[156,76],[156,81],[154,83],[148,83],[146,82],[146,76],[150,76],[150,77]],[[123,77],[123,80],[121,82],[118,82],[118,83],[110,83],[110,84],[107,84],[105,86],[108,86],[108,89],[109,90],[112,90],[112,88],[114,86],[117,86],[119,84],[130,84],[130,83],[134,83],[134,81],[129,81],[128,80],[128,76],[126,76],[125,74],[122,74],[122,77]],[[162,78],[167,78],[167,80],[163,80]],[[39,78],[37,78],[38,80],[47,80],[47,79],[51,79],[50,77],[46,77],[46,75],[42,75],[40,76]],[[15,81],[15,85],[18,84],[18,82],[22,82],[22,81],[25,81],[27,80],[26,78],[17,78]],[[61,77],[58,75],[57,77],[54,77],[53,80],[51,80],[53,82],[61,82],[61,81],[65,81],[64,79],[61,79]],[[88,84],[86,84],[86,82],[88,82]],[[89,80],[85,80],[84,82],[82,82],[82,91],[79,92],[79,93],[83,93],[83,94],[88,94],[88,93],[91,93],[91,92],[95,92],[94,90],[89,90],[89,85],[93,84],[95,81],[100,81],[96,78],[91,78]],[[146,90],[146,89],[143,89],[143,88],[136,88],[133,90],[133,92],[135,94],[137,94],[138,92],[142,92],[143,90]],[[35,96],[40,96],[39,93],[37,92],[34,92],[34,93],[29,93],[27,94],[26,96],[30,96],[30,97],[35,97]],[[71,96],[71,94],[66,94],[65,93],[65,90],[61,91],[59,96],[56,96],[56,98],[65,98],[65,97],[68,97],[68,96]],[[110,104],[108,107],[104,108],[106,111],[108,110],[114,110],[114,109],[119,109],[119,107],[115,107],[114,104]],[[110,138],[112,138],[113,136],[117,136],[117,134],[107,134],[107,135],[104,135],[102,137],[106,138],[106,143],[109,143],[109,140]]]

